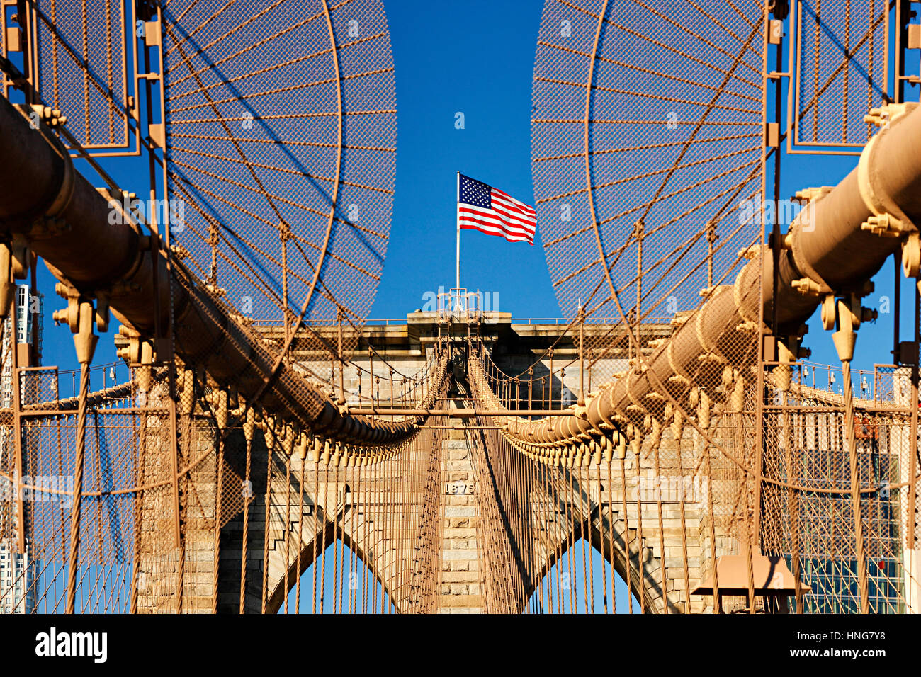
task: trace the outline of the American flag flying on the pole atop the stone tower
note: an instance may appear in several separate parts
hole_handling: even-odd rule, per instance
[[[459,174],[458,227],[501,235],[509,242],[534,244],[534,207],[497,188]]]

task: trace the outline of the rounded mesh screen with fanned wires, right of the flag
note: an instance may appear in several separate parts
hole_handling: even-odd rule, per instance
[[[547,0],[531,152],[566,317],[694,308],[758,234],[736,207],[762,191],[763,15],[752,0]]]

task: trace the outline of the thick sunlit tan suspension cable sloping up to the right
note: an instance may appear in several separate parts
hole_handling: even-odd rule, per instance
[[[775,334],[799,335],[801,323],[823,298],[864,296],[869,279],[916,232],[919,219],[921,109],[911,107],[892,115],[891,123],[864,148],[857,168],[793,222],[785,238],[788,249],[780,257],[776,299],[770,284],[760,284],[773,276],[772,257],[765,249],[740,270],[734,284],[713,290],[642,365],[601,388],[580,415],[540,421],[510,418],[508,434],[526,443],[574,441],[585,439],[589,431],[597,435],[613,426],[642,426],[647,414],[663,416],[670,398],[686,403],[692,386],[715,400],[726,367],[753,379],[750,369],[757,351],[743,353],[739,346],[764,332],[759,303],[770,318],[776,302]],[[880,228],[889,230],[880,234]],[[477,361],[470,360],[470,366],[472,379],[485,382]]]

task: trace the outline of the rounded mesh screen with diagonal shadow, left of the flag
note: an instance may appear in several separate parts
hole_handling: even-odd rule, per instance
[[[363,321],[396,158],[380,3],[170,3],[163,32],[172,230],[193,273],[256,322]]]

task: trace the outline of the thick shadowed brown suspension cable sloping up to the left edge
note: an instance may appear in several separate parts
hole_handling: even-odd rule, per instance
[[[104,295],[113,314],[143,336],[153,335],[157,323],[169,326],[169,285],[158,286],[155,302],[154,280],[171,277],[177,355],[187,364],[203,365],[222,387],[254,396],[276,359],[260,336],[236,321],[236,311],[205,291],[178,257],[168,268],[162,251],[151,251],[148,237],[124,225],[128,219],[110,219],[110,201],[74,169],[52,131],[43,124],[32,129],[2,98],[0,130],[0,236],[25,240],[59,280],[81,294]],[[418,423],[385,426],[348,414],[285,364],[259,405],[313,433],[344,441],[396,441]]]

